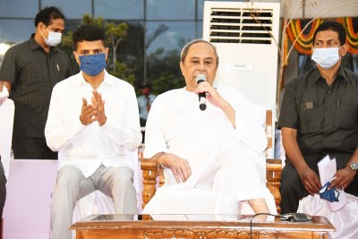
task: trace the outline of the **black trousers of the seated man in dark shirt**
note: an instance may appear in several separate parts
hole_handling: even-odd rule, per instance
[[[317,163],[320,162],[320,159],[324,158],[326,155],[305,155],[304,158],[311,167],[319,175],[319,169]],[[346,163],[352,157],[352,155],[333,155],[329,154],[330,158],[336,158],[337,170],[344,168]],[[289,212],[296,212],[298,209],[299,201],[308,195],[308,192],[305,190],[301,178],[298,175],[294,165],[289,161],[286,156],[286,165],[282,170],[281,177],[281,213],[286,214]],[[358,196],[358,174],[355,174],[354,181],[350,184],[345,192],[350,193],[354,196]]]

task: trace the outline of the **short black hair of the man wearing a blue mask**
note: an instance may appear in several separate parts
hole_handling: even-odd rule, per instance
[[[73,48],[77,50],[78,43],[82,41],[101,40],[105,45],[106,34],[105,30],[96,25],[83,25],[75,30],[72,34]]]

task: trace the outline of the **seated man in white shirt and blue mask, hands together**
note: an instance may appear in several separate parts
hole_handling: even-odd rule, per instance
[[[105,70],[104,30],[84,25],[72,38],[81,72],[55,85],[45,128],[48,147],[58,150],[52,239],[72,238],[76,201],[96,190],[113,198],[116,213],[137,213],[132,183],[141,126],[134,89]]]

